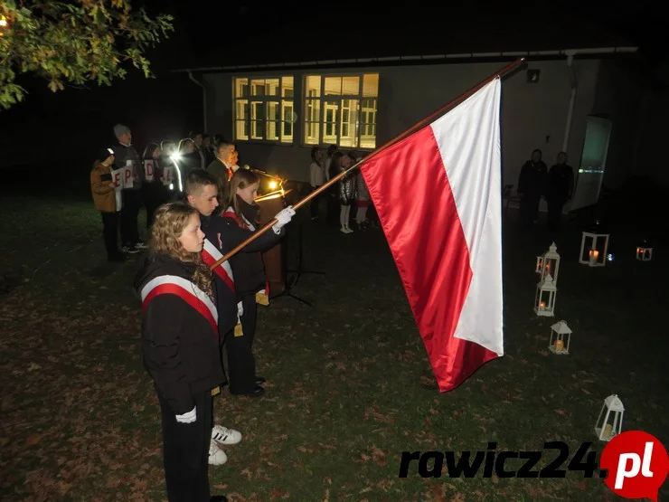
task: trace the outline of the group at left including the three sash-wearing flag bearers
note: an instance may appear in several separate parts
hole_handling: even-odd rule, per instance
[[[117,235],[112,236],[118,232],[112,217],[118,218],[118,193],[120,204],[130,201],[123,210],[134,207],[131,197],[135,196],[119,191],[112,174],[120,166],[140,166],[126,163],[128,158],[138,160],[137,153],[132,157],[127,151],[134,151],[129,129],[117,126],[115,133],[120,147],[103,148],[91,171],[91,191],[102,213],[110,260],[118,259],[117,251],[121,253],[116,248]],[[236,396],[265,393],[266,380],[256,373],[252,351],[257,306],[269,305],[261,252],[278,243],[295,214],[291,206],[282,209],[274,216],[277,223],[271,231],[221,261],[259,228],[258,175],[235,168],[234,147],[221,140],[219,151],[226,148],[230,155],[218,156],[224,167],[218,175],[211,172],[216,170],[213,161],[207,166],[212,169],[202,165],[182,169],[183,190],[172,196],[176,200],[165,201],[165,192],[158,194],[162,181],[155,183],[152,194],[147,185],[153,180],[146,179],[149,170],[136,172],[131,167],[126,174],[140,181],[134,189],[137,196],[145,195],[147,213],[151,213],[150,220],[147,215],[150,239],[146,244],[138,238],[132,242],[133,251],[139,246],[147,250],[138,260],[134,288],[142,300],[144,364],[161,409],[165,484],[171,502],[226,499],[211,497],[208,466],[224,464],[227,455],[221,446],[236,444],[242,436],[240,431],[214,424],[212,400],[224,385]],[[158,179],[163,151],[157,145],[145,150],[145,157],[155,160]]]

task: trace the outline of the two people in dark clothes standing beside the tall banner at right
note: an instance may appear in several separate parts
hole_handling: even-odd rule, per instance
[[[518,178],[520,218],[523,227],[531,228],[539,213],[542,197],[548,205],[548,229],[557,232],[561,227],[562,208],[574,191],[574,170],[567,164],[567,154],[560,152],[557,163],[548,169],[542,161],[542,150],[532,152],[523,164]]]

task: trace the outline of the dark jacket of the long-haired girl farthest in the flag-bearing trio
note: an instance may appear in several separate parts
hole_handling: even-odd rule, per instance
[[[240,204],[241,213],[258,230],[256,220],[258,218],[259,206],[246,204],[239,197],[237,200]],[[231,244],[231,248],[228,250],[230,251],[248,239],[254,231],[245,228],[246,225],[243,220],[225,216],[225,214],[226,212],[221,213],[221,219],[226,224],[226,235],[228,236],[228,242]],[[265,288],[265,265],[260,252],[269,251],[285,232],[285,228],[281,229],[278,235],[273,230],[269,230],[230,259],[238,299],[250,294],[256,294],[260,289]]]

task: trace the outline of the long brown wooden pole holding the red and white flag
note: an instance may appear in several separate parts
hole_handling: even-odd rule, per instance
[[[457,98],[451,99],[450,101],[448,101],[447,104],[445,104],[444,106],[439,107],[438,109],[436,109],[428,117],[423,118],[422,120],[420,120],[419,122],[417,122],[416,124],[414,124],[413,126],[408,128],[407,130],[401,132],[396,137],[393,137],[390,141],[384,143],[381,147],[376,148],[368,156],[365,156],[363,159],[361,159],[358,162],[356,162],[355,164],[353,164],[353,166],[349,167],[345,171],[343,171],[343,172],[339,173],[338,175],[334,176],[334,178],[330,178],[324,185],[320,185],[318,188],[316,188],[316,190],[314,190],[310,194],[306,195],[306,197],[304,199],[299,201],[297,204],[294,204],[293,209],[295,209],[295,210],[299,209],[300,207],[302,207],[303,205],[308,203],[311,199],[316,197],[316,195],[322,194],[323,192],[325,192],[325,190],[327,188],[329,188],[330,186],[337,183],[345,175],[348,175],[351,171],[353,171],[353,169],[357,169],[363,163],[369,162],[369,160],[373,156],[379,155],[383,150],[386,150],[387,148],[391,147],[392,145],[394,145],[398,141],[404,139],[405,137],[408,137],[408,136],[412,135],[417,130],[419,130],[421,128],[424,128],[429,123],[433,122],[436,118],[438,118],[441,115],[443,115],[444,113],[446,113],[448,111],[448,109],[455,108],[462,101],[464,101],[465,99],[467,99],[470,96],[472,96],[473,94],[475,94],[478,90],[481,90],[483,87],[485,87],[485,85],[487,85],[491,81],[494,81],[496,78],[502,78],[502,77],[504,77],[504,75],[510,73],[511,71],[516,70],[521,64],[523,64],[523,62],[525,62],[525,58],[520,58],[519,60],[516,60],[514,62],[510,62],[509,64],[504,66],[504,68],[502,68],[501,70],[495,71],[495,73],[493,73],[492,75],[487,77],[485,80],[480,81],[479,83],[477,83],[476,86],[472,87],[469,90],[466,90],[465,92],[463,92],[462,94],[457,96]],[[274,226],[275,223],[277,223],[277,220],[274,220],[274,219],[271,220],[269,223],[266,223],[265,226],[263,226],[262,228],[260,228],[258,230],[258,232],[254,232],[252,235],[250,235],[250,237],[248,239],[246,239],[244,242],[241,242],[240,245],[238,245],[237,247],[235,247],[231,251],[227,252],[221,258],[221,260],[217,260],[215,263],[213,263],[212,266],[210,267],[210,269],[214,270],[216,267],[221,265],[221,263],[223,261],[230,260],[232,256],[234,256],[235,254],[240,252],[242,249],[244,249],[246,246],[248,246],[250,244],[250,242],[255,241],[256,239],[259,238],[260,235],[269,231],[269,229],[272,228],[272,226]]]

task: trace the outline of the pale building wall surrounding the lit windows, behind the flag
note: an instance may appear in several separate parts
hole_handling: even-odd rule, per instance
[[[585,117],[595,99],[598,60],[574,62],[579,78],[568,153],[578,158],[585,134]],[[449,100],[470,89],[478,81],[499,70],[503,64],[458,63],[424,66],[391,66],[369,69],[327,71],[255,72],[259,76],[295,76],[297,123],[295,137],[302,137],[302,77],[308,74],[378,72],[379,109],[377,146],[410,128]],[[564,61],[529,62],[528,68],[541,71],[539,83],[526,83],[521,70],[504,78],[502,87],[502,160],[504,183],[517,185],[523,162],[533,148],[542,148],[551,166],[562,149],[567,110],[570,102],[570,77]],[[239,75],[239,74],[238,74]],[[232,138],[232,78],[234,73],[210,73],[203,77],[208,89],[208,132]],[[310,163],[309,147],[296,139],[290,146],[237,143],[240,164],[267,169],[292,179],[306,180]]]

